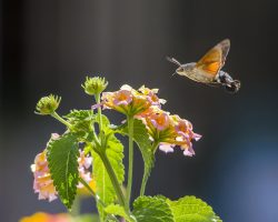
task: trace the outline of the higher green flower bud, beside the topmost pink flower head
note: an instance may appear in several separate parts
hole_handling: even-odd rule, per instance
[[[86,78],[85,84],[82,88],[85,92],[90,95],[100,94],[108,85],[108,82],[105,78],[93,77],[93,78]]]

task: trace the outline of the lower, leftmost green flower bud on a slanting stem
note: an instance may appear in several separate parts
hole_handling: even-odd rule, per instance
[[[52,114],[58,109],[60,101],[61,98],[53,94],[43,97],[37,103],[36,110],[39,114]]]

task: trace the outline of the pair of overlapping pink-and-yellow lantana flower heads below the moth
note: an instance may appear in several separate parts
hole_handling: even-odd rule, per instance
[[[171,115],[161,109],[166,100],[157,97],[158,89],[141,87],[135,90],[125,84],[116,92],[103,92],[103,108],[133,115],[146,124],[152,141],[165,152],[172,152],[176,145],[183,150],[185,155],[192,157],[192,140],[201,135],[192,131],[192,124],[179,115]]]

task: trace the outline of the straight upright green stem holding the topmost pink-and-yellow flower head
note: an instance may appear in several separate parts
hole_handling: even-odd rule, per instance
[[[131,189],[132,189],[132,174],[133,174],[133,117],[128,117],[128,186],[127,186],[127,203],[130,202]]]

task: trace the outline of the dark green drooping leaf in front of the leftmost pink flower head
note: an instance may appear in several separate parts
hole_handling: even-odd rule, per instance
[[[78,184],[78,142],[73,134],[63,134],[48,143],[48,165],[62,203],[70,209]]]

